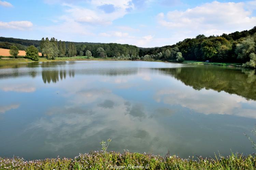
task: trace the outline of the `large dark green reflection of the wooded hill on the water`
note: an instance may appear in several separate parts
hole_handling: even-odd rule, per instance
[[[255,70],[241,71],[221,67],[161,68],[159,70],[162,74],[171,75],[196,90],[213,89],[256,100]]]

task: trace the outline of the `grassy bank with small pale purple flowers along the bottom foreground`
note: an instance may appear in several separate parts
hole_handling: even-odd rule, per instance
[[[112,167],[111,167],[112,166]],[[119,168],[117,168],[117,166]],[[124,166],[121,168],[121,166]],[[134,166],[134,167],[132,167]],[[136,167],[138,166],[138,167]],[[139,167],[140,166],[140,167]],[[165,157],[152,154],[118,153],[94,151],[80,154],[74,159],[47,158],[26,161],[22,158],[0,158],[0,169],[256,169],[255,155],[234,155],[216,158],[190,157],[182,159],[177,156]],[[144,167],[144,168],[143,168]]]

